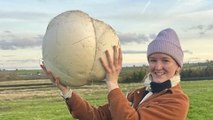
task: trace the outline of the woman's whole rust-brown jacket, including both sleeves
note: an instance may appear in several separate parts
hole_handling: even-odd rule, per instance
[[[140,103],[144,88],[126,96],[117,88],[108,94],[109,104],[95,108],[76,93],[67,100],[68,109],[79,120],[185,120],[188,97],[180,85],[155,93]],[[130,104],[130,102],[132,104]]]

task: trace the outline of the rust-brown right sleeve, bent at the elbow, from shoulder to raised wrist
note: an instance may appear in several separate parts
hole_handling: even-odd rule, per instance
[[[175,100],[176,97],[178,100]],[[188,111],[188,98],[183,94],[166,94],[134,109],[117,88],[109,93],[108,101],[113,120],[184,120]]]

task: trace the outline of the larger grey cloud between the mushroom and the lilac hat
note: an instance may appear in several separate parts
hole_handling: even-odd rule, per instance
[[[155,34],[150,34],[149,36],[144,34],[136,34],[136,33],[122,33],[118,34],[118,37],[121,41],[121,44],[128,44],[128,43],[146,43],[150,39],[153,39]]]

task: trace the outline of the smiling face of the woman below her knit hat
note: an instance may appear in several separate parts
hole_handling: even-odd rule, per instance
[[[153,82],[162,83],[171,79],[180,67],[175,60],[169,55],[155,53],[149,56],[149,71],[152,75]]]

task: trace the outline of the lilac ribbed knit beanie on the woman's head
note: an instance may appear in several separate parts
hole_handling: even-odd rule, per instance
[[[153,53],[165,53],[171,56],[180,67],[183,66],[183,50],[176,32],[167,28],[162,30],[148,45],[147,58]]]

